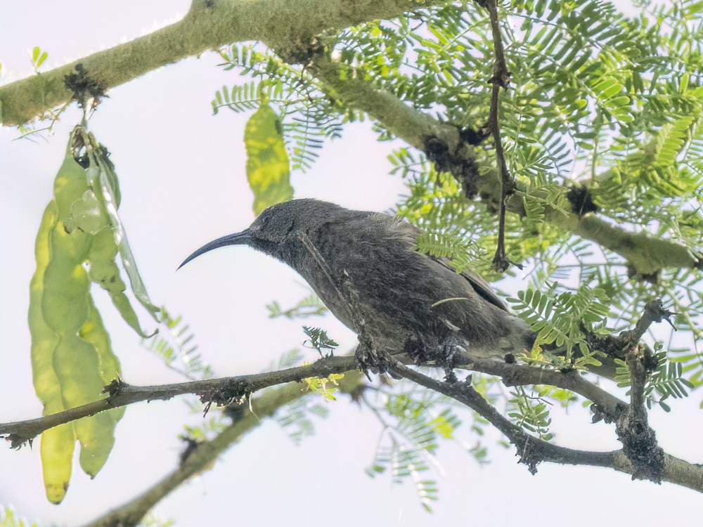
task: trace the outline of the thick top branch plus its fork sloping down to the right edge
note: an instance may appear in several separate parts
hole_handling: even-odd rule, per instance
[[[335,30],[365,20],[393,18],[408,11],[448,1],[378,0],[194,0],[183,20],[151,34],[121,44],[73,63],[27,79],[0,86],[0,123],[23,124],[67,103],[72,93],[65,88],[65,75],[82,63],[89,74],[101,79],[109,88],[124,84],[146,72],[231,42],[259,39],[283,56],[295,56],[302,43],[324,30]],[[411,7],[412,9],[408,8]],[[498,203],[496,171],[480,172],[473,148],[461,141],[459,131],[411,108],[401,100],[375,89],[330,60],[314,59],[311,70],[334,90],[337,97],[381,122],[392,134],[415,148],[425,151],[426,141],[437,138],[449,149],[457,163],[470,170],[477,192]],[[523,190],[517,186],[516,190]],[[524,214],[522,197],[512,195],[506,204],[515,214]],[[592,214],[579,216],[545,207],[545,219],[565,230],[598,243],[620,254],[640,274],[652,274],[662,268],[693,268],[701,261],[677,242],[661,240],[645,233],[630,233]]]

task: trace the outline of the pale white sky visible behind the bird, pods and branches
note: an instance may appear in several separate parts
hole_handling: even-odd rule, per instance
[[[30,50],[49,52],[43,69],[137,37],[186,13],[188,1],[9,2],[1,5],[0,82],[32,74]],[[223,84],[240,82],[205,53],[110,91],[90,128],[110,148],[122,187],[121,214],[150,295],[191,324],[200,351],[217,375],[266,369],[304,339],[299,322],[269,320],[265,304],[290,305],[307,294],[295,273],[244,247],[208,254],[176,273],[202,243],[247,226],[252,197],[244,176],[246,115],[227,110],[212,117],[210,100]],[[66,112],[47,141],[13,141],[0,129],[0,421],[37,417],[30,372],[26,313],[34,271],[34,236],[51,199],[53,178],[79,112]],[[386,209],[403,187],[387,176],[391,145],[375,143],[370,126],[351,126],[325,147],[309,174],[295,174],[296,197],[319,197],[347,207]],[[103,315],[124,379],[131,384],[178,382],[115,315],[103,295]],[[148,325],[148,320],[143,319]],[[320,321],[348,349],[354,335],[333,318]],[[314,360],[314,352],[309,351]],[[662,446],[690,461],[701,458],[699,396],[673,401],[673,415],[652,412]],[[588,424],[585,410],[555,412],[558,443],[574,448],[618,448],[612,427]],[[197,424],[179,400],[132,405],[117,427],[117,444],[91,481],[75,467],[62,505],[44,498],[39,449],[0,449],[0,504],[44,525],[77,525],[117,507],[174,468],[183,423]],[[466,417],[465,422],[469,419]],[[690,523],[699,496],[669,484],[631,482],[606,469],[543,465],[531,476],[513,450],[492,446],[492,464],[478,467],[460,448],[445,445],[439,461],[440,500],[434,514],[420,507],[411,483],[369,479],[380,426],[370,412],[340,398],[317,434],[296,447],[273,422],[249,434],[217,463],[160,503],[156,512],[180,526],[223,523],[307,526],[446,526],[456,523],[544,526],[621,526]],[[465,427],[461,437],[475,437]],[[498,438],[497,435],[493,436]],[[489,439],[486,443],[491,444]],[[435,477],[435,476],[430,476]]]

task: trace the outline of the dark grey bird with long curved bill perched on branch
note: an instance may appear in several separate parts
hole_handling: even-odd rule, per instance
[[[505,360],[531,349],[536,334],[477,273],[418,251],[422,233],[404,219],[309,198],[274,204],[249,228],[209,242],[206,252],[248,245],[304,278],[325,306],[356,332],[366,375],[384,357],[408,353],[451,372],[456,351]]]

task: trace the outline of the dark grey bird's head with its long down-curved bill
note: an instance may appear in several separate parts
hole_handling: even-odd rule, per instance
[[[280,257],[280,251],[288,240],[317,228],[335,212],[343,210],[339,205],[311,199],[275,204],[259,214],[249,228],[206,243],[183,260],[179,268],[201,254],[226,245],[249,245],[271,256]]]

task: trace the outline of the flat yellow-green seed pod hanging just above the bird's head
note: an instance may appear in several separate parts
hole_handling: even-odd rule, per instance
[[[254,214],[276,203],[290,200],[290,164],[283,143],[278,115],[268,104],[261,105],[249,118],[244,130],[247,149],[247,179],[254,193]]]

